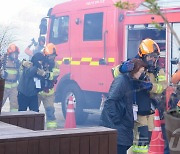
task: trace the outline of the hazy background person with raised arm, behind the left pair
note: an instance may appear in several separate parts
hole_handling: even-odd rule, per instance
[[[27,48],[25,49],[25,51],[24,51],[24,52],[30,57],[30,59],[31,59],[31,57],[32,57],[34,54],[43,51],[44,45],[45,45],[45,37],[44,37],[44,36],[40,36],[40,37],[38,38],[38,43],[34,40],[34,38],[33,38],[31,41],[32,41],[31,44],[28,45],[28,47],[27,47]],[[32,47],[33,45],[35,46],[35,49],[34,49],[34,50],[31,50],[31,47]]]

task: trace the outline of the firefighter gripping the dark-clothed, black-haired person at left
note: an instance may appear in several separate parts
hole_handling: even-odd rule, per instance
[[[55,62],[55,57],[57,56],[55,45],[52,43],[47,44],[43,52],[46,57],[44,70],[49,72],[49,77],[45,80],[44,90],[38,94],[38,101],[39,106],[42,102],[45,108],[47,129],[54,129],[57,128],[54,114],[54,84],[57,82],[60,71],[59,65]]]

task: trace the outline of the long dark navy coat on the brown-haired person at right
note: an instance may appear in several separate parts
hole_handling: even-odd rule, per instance
[[[117,129],[118,144],[131,146],[133,143],[133,80],[121,74],[111,84],[108,98],[101,114],[101,125]]]

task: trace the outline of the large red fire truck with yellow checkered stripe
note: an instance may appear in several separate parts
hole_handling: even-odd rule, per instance
[[[180,35],[180,2],[158,2]],[[87,119],[87,109],[100,108],[101,96],[108,93],[113,80],[111,69],[134,57],[143,39],[151,38],[160,46],[159,65],[166,70],[168,79],[175,71],[170,60],[179,57],[179,46],[162,18],[148,13],[141,5],[134,11],[124,11],[114,3],[72,0],[49,9],[47,17],[41,20],[40,35],[46,35],[47,43],[54,43],[58,53],[56,101],[62,103],[66,115],[68,98],[73,96],[78,124]],[[153,21],[162,28],[157,29]]]

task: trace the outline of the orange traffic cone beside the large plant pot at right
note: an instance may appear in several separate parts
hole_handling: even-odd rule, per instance
[[[161,120],[159,118],[158,110],[155,111],[154,125],[155,128],[152,131],[148,154],[164,154],[164,139],[162,136]]]

